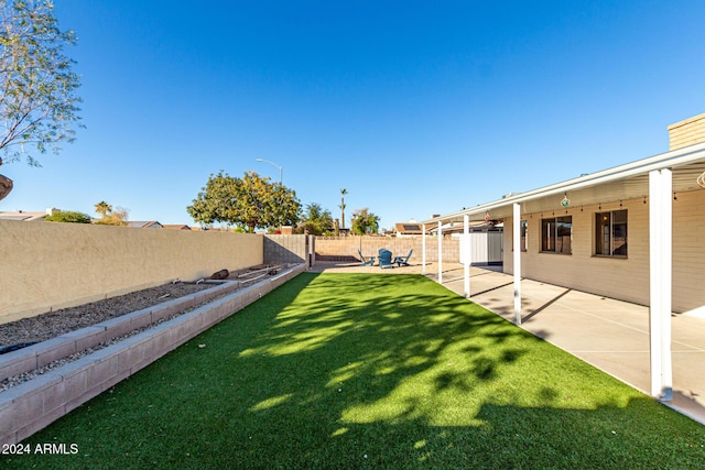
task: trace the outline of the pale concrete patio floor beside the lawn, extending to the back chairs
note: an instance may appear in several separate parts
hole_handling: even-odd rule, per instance
[[[317,263],[312,271],[421,274],[422,266],[382,270]],[[426,264],[437,281],[437,265]],[[464,267],[443,264],[443,285],[464,294]],[[522,328],[610,375],[649,393],[649,308],[538,281],[523,280]],[[492,269],[470,270],[470,299],[513,321],[512,276]],[[666,405],[705,424],[705,318],[673,314],[673,401]]]

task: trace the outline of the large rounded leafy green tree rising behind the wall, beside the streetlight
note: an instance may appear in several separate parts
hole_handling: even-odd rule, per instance
[[[198,223],[225,222],[253,232],[254,228],[296,225],[301,203],[296,193],[252,171],[234,178],[220,171],[210,175],[193,204],[186,207]]]

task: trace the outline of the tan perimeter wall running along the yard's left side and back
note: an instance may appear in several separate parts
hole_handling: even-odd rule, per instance
[[[216,271],[263,263],[315,263],[326,259],[394,255],[413,250],[421,263],[422,239],[259,236],[216,231],[141,229],[83,223],[0,220],[0,324],[96,302],[176,278],[196,281]],[[426,237],[426,261],[438,243]],[[459,242],[443,241],[443,259],[459,260]]]

